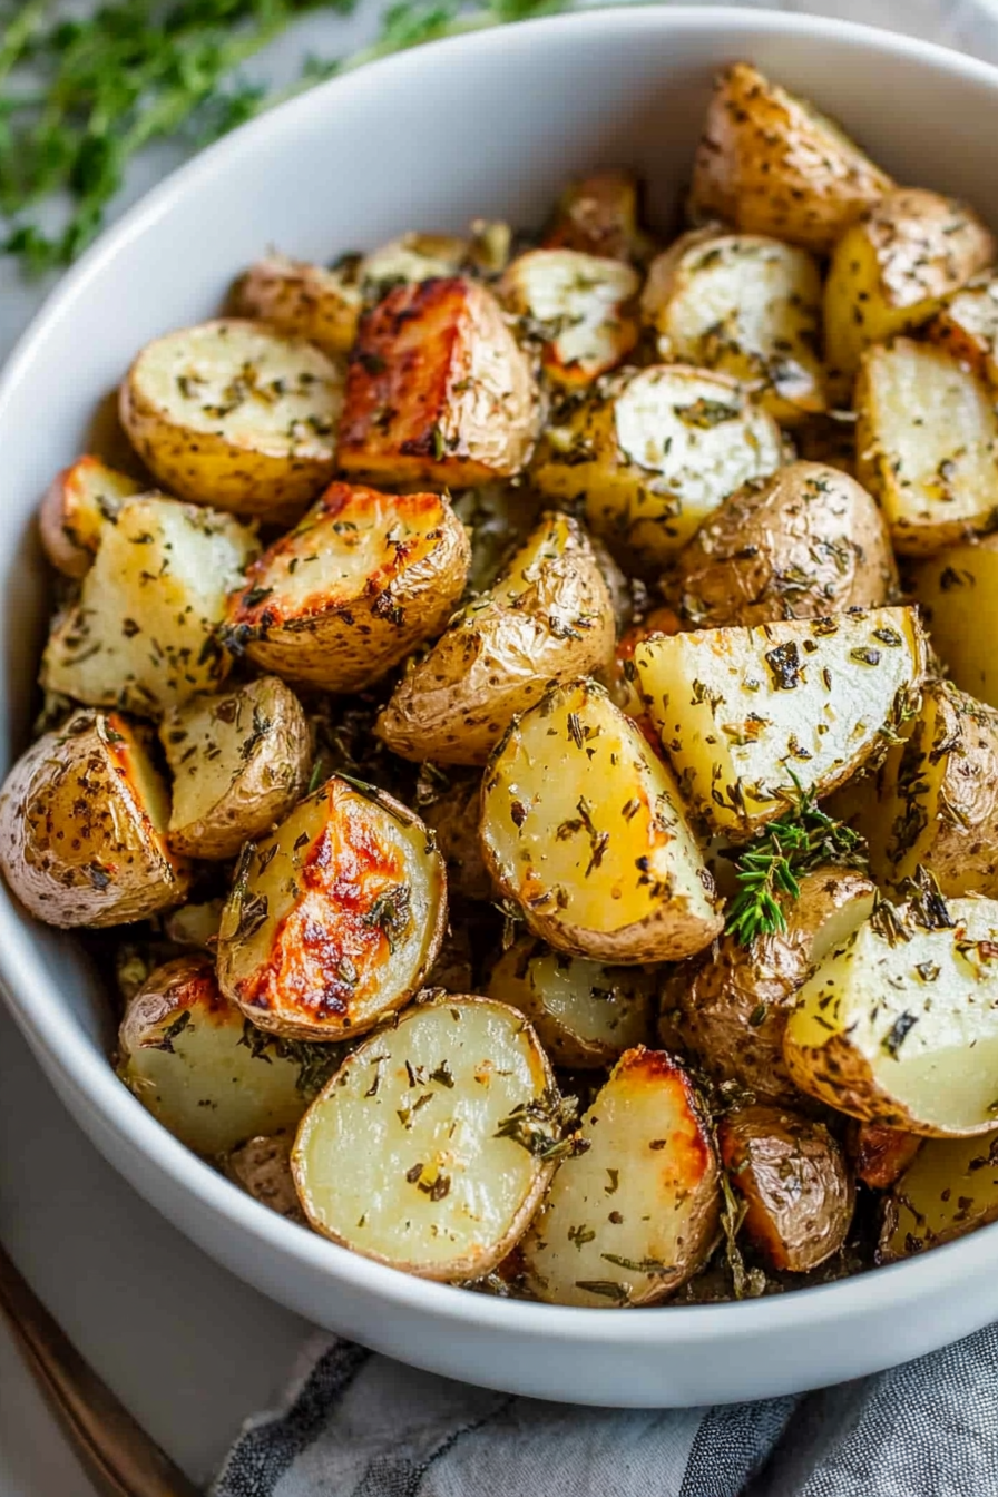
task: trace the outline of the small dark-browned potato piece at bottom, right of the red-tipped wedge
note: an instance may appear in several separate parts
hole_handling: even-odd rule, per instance
[[[769,1268],[806,1274],[838,1253],[856,1198],[823,1123],[786,1108],[738,1108],[721,1118],[717,1141],[745,1202],[742,1231]]]

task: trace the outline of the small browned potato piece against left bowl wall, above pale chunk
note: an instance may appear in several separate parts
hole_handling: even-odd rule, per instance
[[[66,576],[85,576],[106,525],[115,524],[126,499],[142,485],[100,458],[85,455],[63,469],[48,487],[37,522],[42,549]]]

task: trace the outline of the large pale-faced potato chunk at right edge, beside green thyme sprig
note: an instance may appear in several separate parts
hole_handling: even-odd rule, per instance
[[[869,1123],[947,1138],[995,1126],[998,901],[886,901],[820,963],[784,1031],[790,1075]]]

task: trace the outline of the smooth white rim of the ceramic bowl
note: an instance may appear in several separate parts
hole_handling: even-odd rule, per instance
[[[769,33],[774,37],[799,37],[815,43],[833,37],[857,51],[880,52],[886,60],[911,58],[928,63],[938,72],[983,84],[998,94],[998,67],[919,37],[829,16],[736,6],[636,4],[578,10],[467,31],[380,58],[310,88],[214,142],[178,166],[109,226],[64,274],[18,338],[0,374],[0,424],[15,386],[34,356],[36,343],[85,293],[91,278],[112,262],[132,238],[145,234],[159,219],[168,216],[189,186],[224,172],[230,157],[253,153],[259,141],[281,132],[293,132],[298,120],[323,114],[334,100],[338,106],[353,93],[371,87],[383,88],[386,93],[392,87],[402,88],[419,73],[426,55],[437,55],[441,49],[453,54],[455,64],[464,55],[489,51],[498,58],[495,66],[503,66],[503,61],[507,64],[512,61],[518,48],[530,46],[534,39],[546,37],[549,33],[572,31],[600,37],[619,30],[675,34],[703,28],[724,30],[732,42],[732,55],[738,52],[739,36],[748,31]],[[507,57],[503,58],[503,54]],[[606,1314],[604,1310],[588,1305],[546,1305],[492,1298],[468,1293],[452,1284],[414,1278],[277,1216],[168,1133],[121,1084],[105,1055],[79,1043],[75,1028],[67,1034],[58,985],[48,978],[43,963],[36,957],[30,931],[22,930],[13,918],[16,903],[6,889],[0,894],[0,987],[28,1042],[46,1057],[49,1079],[52,1072],[61,1073],[75,1096],[100,1117],[106,1129],[126,1141],[133,1151],[148,1157],[162,1174],[171,1177],[174,1187],[196,1198],[200,1207],[223,1219],[230,1231],[262,1238],[286,1260],[298,1260],[302,1266],[329,1274],[341,1284],[377,1298],[386,1305],[531,1340],[552,1335],[588,1346],[619,1343],[664,1347],[678,1341],[745,1340],[763,1331],[820,1328],[847,1314],[862,1316],[866,1310],[871,1313],[874,1308],[883,1310],[884,1296],[890,1298],[895,1307],[914,1304],[935,1284],[961,1269],[980,1269],[995,1260],[998,1223],[980,1228],[931,1253],[827,1284],[762,1299],[634,1308],[625,1316]],[[154,1199],[153,1204],[156,1205]],[[663,1314],[663,1308],[667,1308],[669,1314]]]

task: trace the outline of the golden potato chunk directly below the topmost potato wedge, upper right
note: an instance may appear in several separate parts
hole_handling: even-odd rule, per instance
[[[922,187],[895,187],[835,246],[824,284],[824,355],[845,398],[863,349],[928,322],[995,259],[977,214]]]

